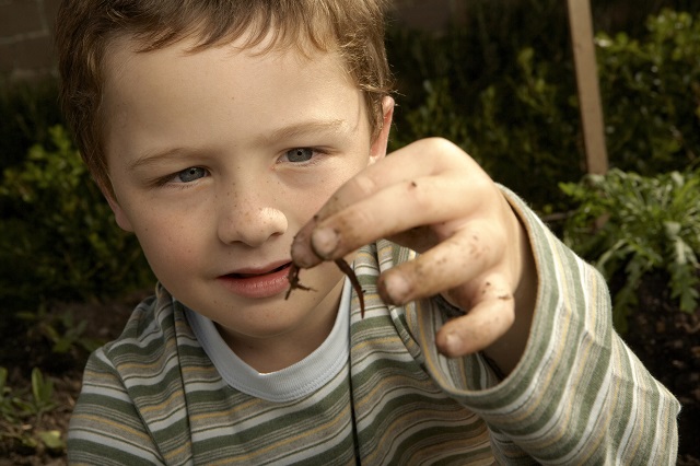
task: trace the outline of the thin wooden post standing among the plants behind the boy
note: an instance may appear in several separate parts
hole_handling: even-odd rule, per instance
[[[605,174],[608,171],[608,154],[605,147],[591,3],[590,0],[568,0],[568,2],[586,167],[588,173]]]

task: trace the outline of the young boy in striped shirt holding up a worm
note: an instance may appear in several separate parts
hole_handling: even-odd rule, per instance
[[[70,463],[675,462],[598,273],[452,143],[385,156],[382,8],[63,1],[68,120],[159,279]]]

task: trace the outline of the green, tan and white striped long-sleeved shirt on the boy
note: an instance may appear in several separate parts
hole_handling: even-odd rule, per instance
[[[360,251],[347,362],[281,400],[234,388],[162,287],[85,369],[70,464],[675,464],[679,405],[611,328],[605,281],[515,197],[538,270],[525,353],[499,380],[480,354],[447,359],[441,299],[387,306],[383,270],[415,253]]]

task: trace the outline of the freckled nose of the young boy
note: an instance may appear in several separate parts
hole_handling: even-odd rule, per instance
[[[287,232],[287,215],[255,198],[231,199],[222,202],[220,209],[218,234],[223,243],[258,247],[270,237]]]

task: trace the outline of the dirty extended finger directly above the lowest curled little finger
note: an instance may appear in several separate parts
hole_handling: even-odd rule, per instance
[[[384,272],[377,283],[382,299],[400,305],[457,287],[466,287],[467,296],[475,294],[468,283],[491,269],[501,256],[500,248],[493,247],[495,233],[491,234],[485,223],[471,222],[416,259]],[[470,307],[470,302],[459,304],[463,308]]]

